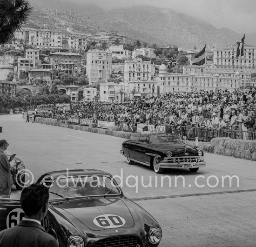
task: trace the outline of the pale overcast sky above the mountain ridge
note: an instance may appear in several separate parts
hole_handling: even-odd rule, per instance
[[[101,7],[130,7],[145,4],[171,8],[179,13],[207,20],[217,28],[236,33],[256,33],[256,0],[96,0]]]

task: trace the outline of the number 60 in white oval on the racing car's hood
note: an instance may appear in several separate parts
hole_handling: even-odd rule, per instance
[[[94,218],[94,224],[103,228],[122,227],[125,223],[125,219],[113,214],[99,215]]]

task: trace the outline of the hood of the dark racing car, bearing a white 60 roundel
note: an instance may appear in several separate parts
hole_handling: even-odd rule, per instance
[[[69,200],[54,207],[63,209],[93,231],[134,226],[130,210],[120,198]]]

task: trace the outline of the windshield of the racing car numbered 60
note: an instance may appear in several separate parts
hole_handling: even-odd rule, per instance
[[[106,175],[79,175],[57,178],[52,183],[50,199],[79,196],[120,195],[121,190],[112,177]],[[58,196],[59,195],[59,196]]]

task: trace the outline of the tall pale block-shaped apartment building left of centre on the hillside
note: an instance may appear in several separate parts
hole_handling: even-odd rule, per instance
[[[112,52],[108,50],[89,50],[86,53],[86,74],[90,85],[100,80],[110,79],[112,71]]]

